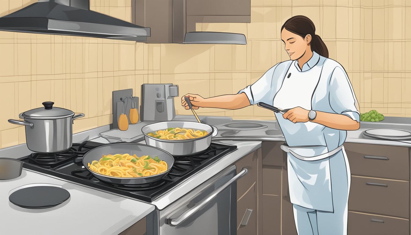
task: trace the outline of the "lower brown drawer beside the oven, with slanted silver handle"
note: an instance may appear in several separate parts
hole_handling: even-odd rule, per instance
[[[237,235],[256,234],[257,232],[257,187],[252,188],[237,202]],[[252,209],[247,225],[241,225],[247,209]],[[244,220],[246,220],[245,218]]]

